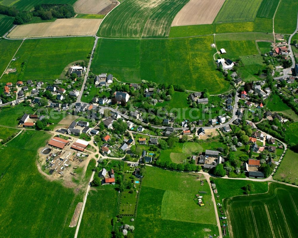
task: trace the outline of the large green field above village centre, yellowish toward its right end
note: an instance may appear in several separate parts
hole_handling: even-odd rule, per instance
[[[94,74],[109,72],[119,81],[183,83],[189,90],[209,88],[210,93],[229,90],[229,83],[216,69],[211,48],[213,36],[165,39],[102,39],[91,64]]]

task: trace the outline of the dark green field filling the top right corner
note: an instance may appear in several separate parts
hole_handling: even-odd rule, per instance
[[[281,0],[274,18],[274,32],[292,34],[297,26],[297,11],[298,1]]]

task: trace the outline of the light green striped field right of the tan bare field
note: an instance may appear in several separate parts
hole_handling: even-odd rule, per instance
[[[260,4],[261,0],[226,0],[215,22],[254,21]]]

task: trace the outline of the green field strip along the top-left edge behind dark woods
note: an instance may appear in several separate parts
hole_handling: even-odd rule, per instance
[[[74,4],[77,0],[1,0],[0,4],[14,6],[18,10],[30,11],[37,4]]]

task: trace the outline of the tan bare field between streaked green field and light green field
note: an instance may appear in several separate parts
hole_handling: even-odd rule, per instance
[[[225,0],[190,0],[175,16],[172,27],[212,24]]]

